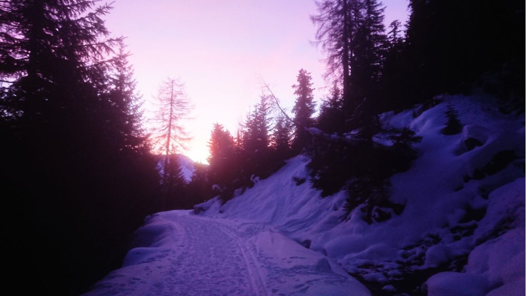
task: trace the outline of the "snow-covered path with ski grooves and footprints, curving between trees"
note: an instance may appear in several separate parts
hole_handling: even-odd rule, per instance
[[[156,214],[140,247],[86,295],[368,295],[322,254],[264,224]]]

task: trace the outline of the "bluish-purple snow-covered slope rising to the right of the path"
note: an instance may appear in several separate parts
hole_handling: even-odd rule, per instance
[[[368,224],[351,213],[342,222],[345,192],[320,198],[306,156],[222,206],[211,200],[197,208],[273,225],[386,294],[523,294],[524,116],[500,113],[489,98],[443,100],[416,117],[417,109],[382,115],[383,124],[422,136],[411,169],[391,178],[391,200],[406,206],[390,220]],[[459,111],[460,134],[440,132],[448,104]],[[426,280],[422,290],[407,287]]]

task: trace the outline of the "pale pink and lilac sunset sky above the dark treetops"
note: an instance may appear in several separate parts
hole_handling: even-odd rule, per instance
[[[384,0],[386,25],[407,19],[407,0]],[[195,105],[185,123],[194,137],[191,159],[206,162],[214,123],[232,134],[259,100],[263,77],[288,110],[296,75],[311,72],[317,101],[326,95],[323,53],[309,41],[316,27],[313,0],[117,0],[106,17],[114,35],[124,35],[146,114],[159,84],[180,78]]]

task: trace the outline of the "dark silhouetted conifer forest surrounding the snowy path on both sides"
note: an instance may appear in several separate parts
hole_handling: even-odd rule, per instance
[[[25,283],[21,294],[85,292],[122,264],[147,215],[226,202],[300,153],[310,179],[298,184],[345,190],[347,214],[360,206],[368,223],[386,220],[378,206],[404,206],[389,200],[389,177],[410,168],[421,139],[383,130],[380,113],[474,92],[497,97],[502,113],[524,112],[524,3],[411,0],[408,23],[389,27],[378,0],[317,5],[330,95],[316,106],[310,73],[298,69],[289,112],[265,84],[238,131],[214,125],[209,165],[188,182],[174,154],[188,102],[174,100],[178,82],[168,80],[164,124],[147,130],[126,40],[104,24],[110,4],[0,1],[5,281]],[[461,132],[457,115],[444,114],[444,134]],[[395,144],[378,145],[379,133]]]

